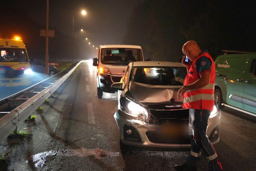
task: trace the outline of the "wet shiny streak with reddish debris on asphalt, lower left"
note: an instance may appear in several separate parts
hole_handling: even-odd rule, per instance
[[[97,159],[103,157],[116,157],[119,156],[119,152],[107,152],[100,148],[96,149],[66,149],[66,150],[51,150],[42,153],[38,153],[29,157],[28,162],[36,162],[34,165],[35,167],[42,167],[46,161],[47,156],[57,156],[61,155],[63,157],[72,157],[72,156],[79,156],[79,157],[88,157],[94,156]]]

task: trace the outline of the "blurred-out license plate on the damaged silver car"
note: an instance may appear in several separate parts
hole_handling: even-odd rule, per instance
[[[182,124],[166,124],[162,125],[159,133],[165,136],[184,136],[188,134],[188,127]]]

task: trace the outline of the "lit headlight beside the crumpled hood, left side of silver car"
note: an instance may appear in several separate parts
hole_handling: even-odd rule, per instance
[[[124,96],[122,96],[120,98],[120,100],[123,105],[122,111],[124,111],[132,116],[135,116],[135,117],[138,117],[138,115],[140,115],[144,119],[148,118],[148,112],[146,111],[146,109],[143,106],[131,101],[130,99],[128,99]]]

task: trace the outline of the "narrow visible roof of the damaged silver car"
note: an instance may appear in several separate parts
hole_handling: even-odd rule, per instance
[[[160,66],[160,67],[185,67],[183,64],[178,62],[166,62],[166,61],[138,61],[133,62],[133,66]]]

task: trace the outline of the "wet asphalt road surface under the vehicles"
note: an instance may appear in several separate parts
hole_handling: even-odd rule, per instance
[[[174,171],[189,154],[140,149],[122,155],[113,117],[117,93],[97,98],[96,67],[91,63],[82,63],[49,100],[43,112],[35,113],[36,123],[19,127],[33,136],[0,144],[0,153],[9,159],[7,170]],[[224,171],[256,171],[256,119],[223,109],[220,135],[214,147]],[[207,170],[203,158],[198,171]]]

